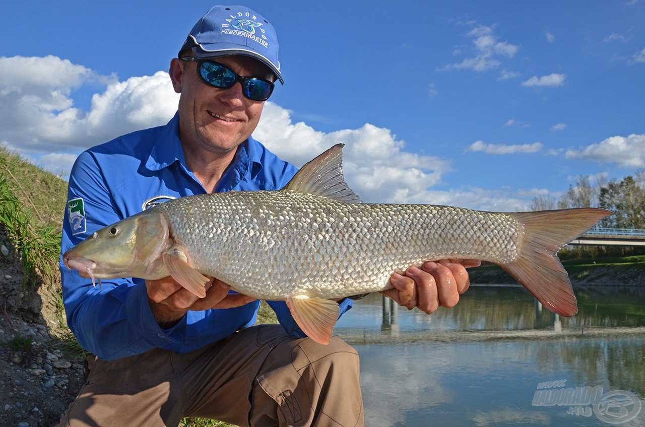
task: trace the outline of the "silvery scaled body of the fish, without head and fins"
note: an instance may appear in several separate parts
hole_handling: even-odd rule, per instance
[[[342,203],[284,190],[190,199],[159,207],[192,266],[268,300],[377,292],[391,287],[392,273],[428,260],[508,263],[521,238],[509,215],[449,206]]]

